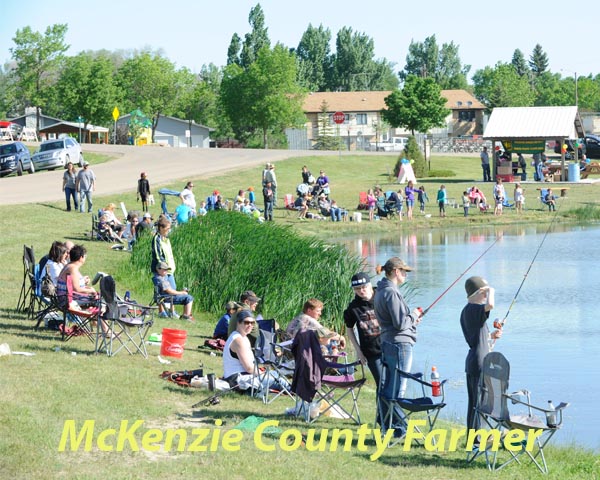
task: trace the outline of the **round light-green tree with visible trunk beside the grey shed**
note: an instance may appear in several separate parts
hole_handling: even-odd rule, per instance
[[[171,115],[177,91],[175,66],[157,54],[141,53],[126,60],[117,72],[125,111],[140,109],[152,121],[152,141],[161,115]]]

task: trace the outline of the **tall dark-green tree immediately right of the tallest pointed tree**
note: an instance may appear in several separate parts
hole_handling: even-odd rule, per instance
[[[318,28],[308,25],[302,34],[298,48],[298,84],[311,92],[322,92],[331,77],[332,56],[329,48],[331,32],[323,25]]]

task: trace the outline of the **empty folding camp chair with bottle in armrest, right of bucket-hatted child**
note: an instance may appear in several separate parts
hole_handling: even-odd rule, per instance
[[[481,446],[473,447],[467,461],[471,462],[484,454],[487,467],[495,471],[512,462],[521,463],[519,457],[525,454],[540,472],[548,473],[544,447],[561,428],[563,410],[569,404],[560,403],[554,410],[536,407],[530,403],[530,392],[527,390],[507,393],[509,377],[510,364],[506,357],[500,352],[488,353],[483,359],[478,405],[475,407],[484,423],[483,429],[477,430],[481,437]],[[521,398],[526,398],[526,401]],[[508,411],[508,400],[513,405],[527,407],[527,413],[511,415]],[[534,410],[540,412],[542,418],[534,415]],[[517,431],[519,437],[514,435]],[[506,436],[503,438],[504,435]],[[492,451],[487,448],[489,444],[484,441],[484,436],[487,436],[486,440],[492,440]],[[510,438],[515,440],[511,442]],[[507,448],[507,442],[510,448]]]

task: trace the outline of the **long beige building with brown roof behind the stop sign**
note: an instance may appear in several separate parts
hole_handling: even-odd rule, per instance
[[[331,116],[344,112],[346,120],[339,125],[339,135],[345,139],[349,150],[368,150],[371,144],[387,140],[392,136],[406,136],[410,132],[390,128],[381,117],[385,98],[391,91],[378,92],[315,92],[306,96],[303,110],[306,114],[306,134],[312,146],[319,136],[319,118],[323,105],[329,114],[328,131],[337,132],[338,126]],[[447,99],[448,115],[446,127],[435,129],[430,134],[444,137],[481,135],[485,106],[466,90],[442,90]],[[322,125],[322,122],[321,122]],[[329,133],[335,134],[335,133]]]

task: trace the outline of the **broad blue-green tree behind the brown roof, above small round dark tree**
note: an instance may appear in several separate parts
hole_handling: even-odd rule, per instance
[[[441,48],[435,35],[423,42],[411,41],[406,55],[406,66],[399,73],[402,80],[410,75],[433,78],[442,89],[467,88],[467,75],[470,65],[462,65],[458,53],[459,46],[454,42],[444,43]]]

